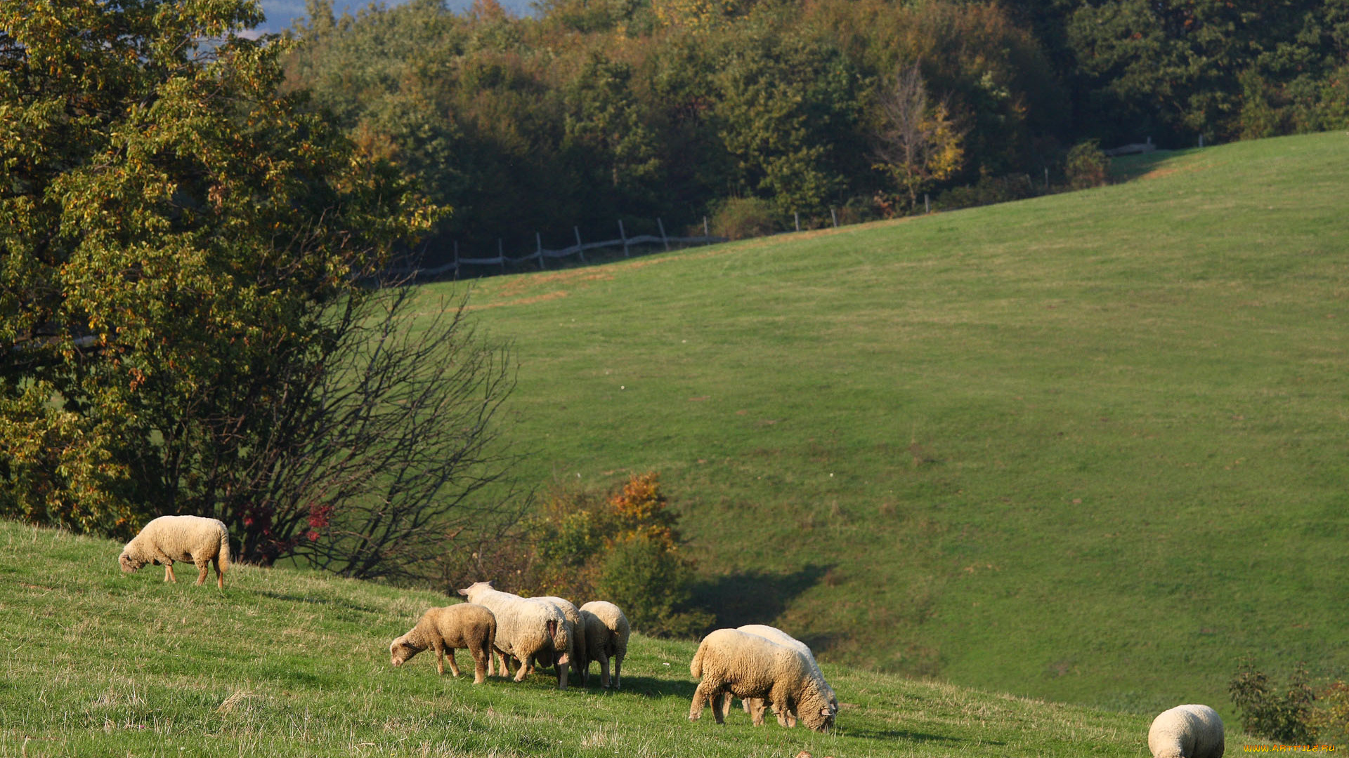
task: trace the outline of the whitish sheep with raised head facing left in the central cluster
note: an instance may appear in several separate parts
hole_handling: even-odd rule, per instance
[[[487,607],[496,616],[496,645],[502,670],[510,673],[506,657],[519,661],[515,681],[534,670],[534,661],[557,666],[557,689],[567,689],[567,665],[571,662],[571,622],[548,600],[525,599],[492,588],[491,581],[476,581],[459,591],[469,603]]]

